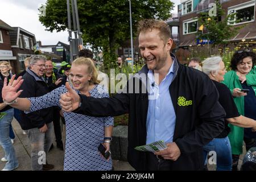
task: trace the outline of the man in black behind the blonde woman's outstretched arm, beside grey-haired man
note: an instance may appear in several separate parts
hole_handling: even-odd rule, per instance
[[[53,64],[51,60],[46,61],[46,70],[44,72],[44,78],[46,79],[49,90],[52,91],[58,86],[61,86],[61,81],[63,80],[62,76],[53,71]],[[54,134],[56,138],[57,148],[64,150],[63,142],[61,137],[61,127],[60,127],[60,109],[59,107],[52,107],[53,112],[53,126]],[[51,145],[50,150],[52,149],[53,144]]]

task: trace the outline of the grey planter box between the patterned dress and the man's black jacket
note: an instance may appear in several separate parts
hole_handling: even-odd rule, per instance
[[[128,126],[116,126],[113,129],[111,142],[112,159],[127,161]]]

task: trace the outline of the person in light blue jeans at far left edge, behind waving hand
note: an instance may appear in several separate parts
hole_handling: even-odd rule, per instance
[[[7,82],[9,82],[12,69],[11,65],[7,61],[0,62],[0,89],[3,88],[3,80],[7,78]],[[11,141],[11,137],[14,139],[15,135],[13,133],[13,129],[11,127],[11,122],[13,121],[14,110],[13,107],[10,107],[7,104],[3,103],[2,93],[0,94],[0,144],[5,151],[5,156],[1,159],[2,162],[7,162],[2,171],[12,171],[15,168],[18,168],[19,163],[15,154],[15,150],[13,147],[13,142]],[[11,134],[13,133],[13,134]],[[11,136],[10,136],[11,135]],[[13,135],[13,136],[12,136]]]

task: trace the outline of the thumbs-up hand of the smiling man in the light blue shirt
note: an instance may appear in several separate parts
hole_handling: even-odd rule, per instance
[[[80,97],[75,90],[71,88],[68,82],[66,82],[67,93],[61,94],[60,105],[62,110],[71,112],[79,107]]]

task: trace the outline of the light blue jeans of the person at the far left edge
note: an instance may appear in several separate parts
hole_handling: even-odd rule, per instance
[[[14,151],[13,144],[9,137],[10,124],[13,121],[13,109],[6,110],[6,115],[0,119],[0,144],[5,150],[5,158],[8,162],[5,164],[5,169],[13,170],[19,166],[18,159]]]

